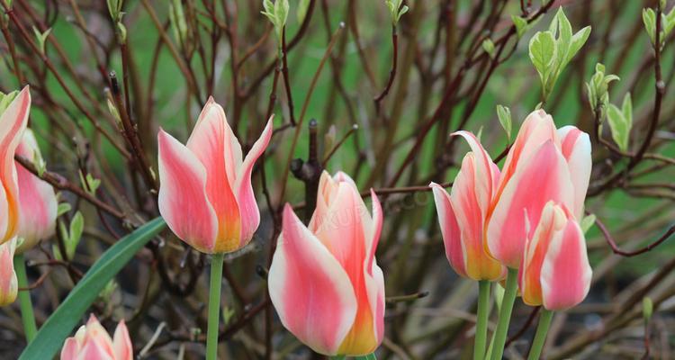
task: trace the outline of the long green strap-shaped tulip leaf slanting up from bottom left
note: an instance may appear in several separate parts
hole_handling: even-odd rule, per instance
[[[70,291],[66,300],[42,324],[37,337],[23,350],[19,359],[51,359],[56,356],[64,340],[70,336],[112,277],[165,226],[162,218],[150,220],[105,251]]]

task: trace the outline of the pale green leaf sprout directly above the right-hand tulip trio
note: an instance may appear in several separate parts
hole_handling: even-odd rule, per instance
[[[572,33],[572,24],[559,8],[548,31],[538,31],[529,44],[529,57],[542,83],[542,98],[553,92],[563,69],[589,39],[590,26]],[[557,38],[556,38],[557,37]]]

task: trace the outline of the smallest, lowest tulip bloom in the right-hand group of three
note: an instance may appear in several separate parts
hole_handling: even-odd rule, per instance
[[[589,293],[591,275],[579,223],[563,206],[546,203],[519,269],[523,302],[550,311],[572,308]]]

